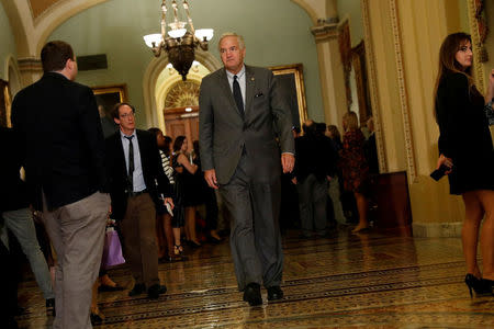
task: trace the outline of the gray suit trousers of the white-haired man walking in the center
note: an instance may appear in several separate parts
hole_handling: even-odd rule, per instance
[[[231,181],[220,185],[232,218],[231,248],[239,291],[249,283],[280,285],[283,270],[280,179],[252,180],[249,160],[244,154]]]

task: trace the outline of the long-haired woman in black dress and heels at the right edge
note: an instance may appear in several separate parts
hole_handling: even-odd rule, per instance
[[[435,115],[439,125],[439,159],[445,164],[450,193],[461,195],[465,206],[462,229],[467,261],[465,284],[472,294],[492,293],[494,283],[494,151],[485,106],[494,95],[491,75],[484,99],[473,83],[470,35],[448,35],[439,53]],[[492,111],[492,107],[491,107]],[[476,262],[479,227],[483,274]]]

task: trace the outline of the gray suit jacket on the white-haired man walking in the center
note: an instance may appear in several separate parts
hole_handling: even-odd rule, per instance
[[[243,116],[222,68],[202,79],[199,97],[199,141],[203,170],[215,169],[220,184],[228,183],[245,147],[252,179],[269,182],[281,174],[282,152],[295,152],[289,106],[269,69],[245,66],[246,104]],[[276,140],[279,137],[279,145]]]

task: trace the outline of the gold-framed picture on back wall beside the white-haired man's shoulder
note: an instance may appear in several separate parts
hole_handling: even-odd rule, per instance
[[[302,64],[282,65],[269,68],[281,87],[292,113],[293,126],[301,127],[307,120],[304,73]]]

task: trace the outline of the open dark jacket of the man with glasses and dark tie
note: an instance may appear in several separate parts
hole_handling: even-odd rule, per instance
[[[160,194],[165,197],[171,197],[171,188],[162,170],[156,137],[154,134],[139,129],[136,129],[136,134],[146,189],[155,204],[162,203],[158,197],[160,197]],[[128,181],[120,131],[106,138],[105,146],[112,217],[122,219],[127,207]]]

